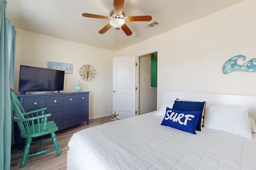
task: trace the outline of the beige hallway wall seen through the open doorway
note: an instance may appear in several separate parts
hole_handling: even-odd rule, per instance
[[[139,57],[139,114],[156,110],[157,88],[151,88],[151,54]]]

